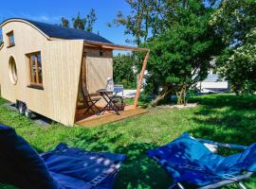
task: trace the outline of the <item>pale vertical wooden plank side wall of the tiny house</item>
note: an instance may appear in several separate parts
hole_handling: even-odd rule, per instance
[[[24,22],[2,26],[6,33],[13,30],[15,46],[0,51],[1,94],[11,102],[27,103],[29,110],[45,115],[64,125],[73,125],[82,62],[83,40],[49,41],[42,32]],[[44,90],[28,88],[29,60],[27,54],[41,52]],[[9,58],[16,62],[18,81],[9,79]]]

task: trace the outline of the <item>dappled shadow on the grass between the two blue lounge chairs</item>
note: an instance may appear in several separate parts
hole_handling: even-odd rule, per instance
[[[165,171],[155,161],[147,157],[146,151],[155,148],[155,145],[147,143],[132,143],[125,146],[114,146],[117,144],[121,134],[116,134],[108,139],[98,136],[90,137],[80,134],[70,142],[70,146],[86,147],[91,151],[111,151],[122,153],[127,159],[122,163],[119,178],[115,188],[168,188],[171,180]],[[87,144],[87,145],[85,145]],[[89,144],[89,145],[88,145]]]

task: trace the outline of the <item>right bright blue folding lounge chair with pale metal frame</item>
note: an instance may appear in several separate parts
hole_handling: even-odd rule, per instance
[[[223,157],[212,153],[205,144],[243,150],[241,153]],[[235,183],[246,189],[243,180],[256,172],[256,143],[251,146],[238,146],[195,139],[188,133],[166,146],[147,152],[173,179],[171,188],[200,189],[219,188]]]

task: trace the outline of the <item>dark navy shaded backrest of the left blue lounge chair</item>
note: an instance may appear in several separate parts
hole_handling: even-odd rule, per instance
[[[26,189],[61,188],[37,152],[4,125],[0,125],[0,182]]]

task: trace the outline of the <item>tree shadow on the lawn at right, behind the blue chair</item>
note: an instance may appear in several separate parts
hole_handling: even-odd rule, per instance
[[[189,132],[198,138],[222,143],[249,146],[256,143],[256,97],[230,94],[193,98],[202,108],[194,112],[192,121],[197,125]],[[234,151],[220,150],[224,155]],[[255,175],[246,182],[248,188],[256,188]],[[230,188],[232,186],[229,185]]]

